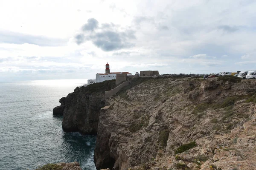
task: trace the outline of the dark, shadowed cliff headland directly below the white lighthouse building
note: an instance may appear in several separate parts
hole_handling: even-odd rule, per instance
[[[105,105],[104,92],[115,87],[114,81],[77,87],[65,100],[62,128],[66,132],[96,135],[99,111]]]

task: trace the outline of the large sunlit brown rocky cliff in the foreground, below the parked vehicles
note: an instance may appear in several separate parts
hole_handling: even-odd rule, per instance
[[[96,168],[256,169],[255,92],[254,80],[215,78],[121,91],[99,114]]]

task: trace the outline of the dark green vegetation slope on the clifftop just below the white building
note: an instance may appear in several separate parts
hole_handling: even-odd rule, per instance
[[[81,88],[85,91],[86,94],[91,94],[93,92],[105,93],[105,91],[110,91],[115,87],[116,87],[115,79],[104,81],[104,82],[93,83],[93,84],[87,85],[86,87],[81,86]]]

